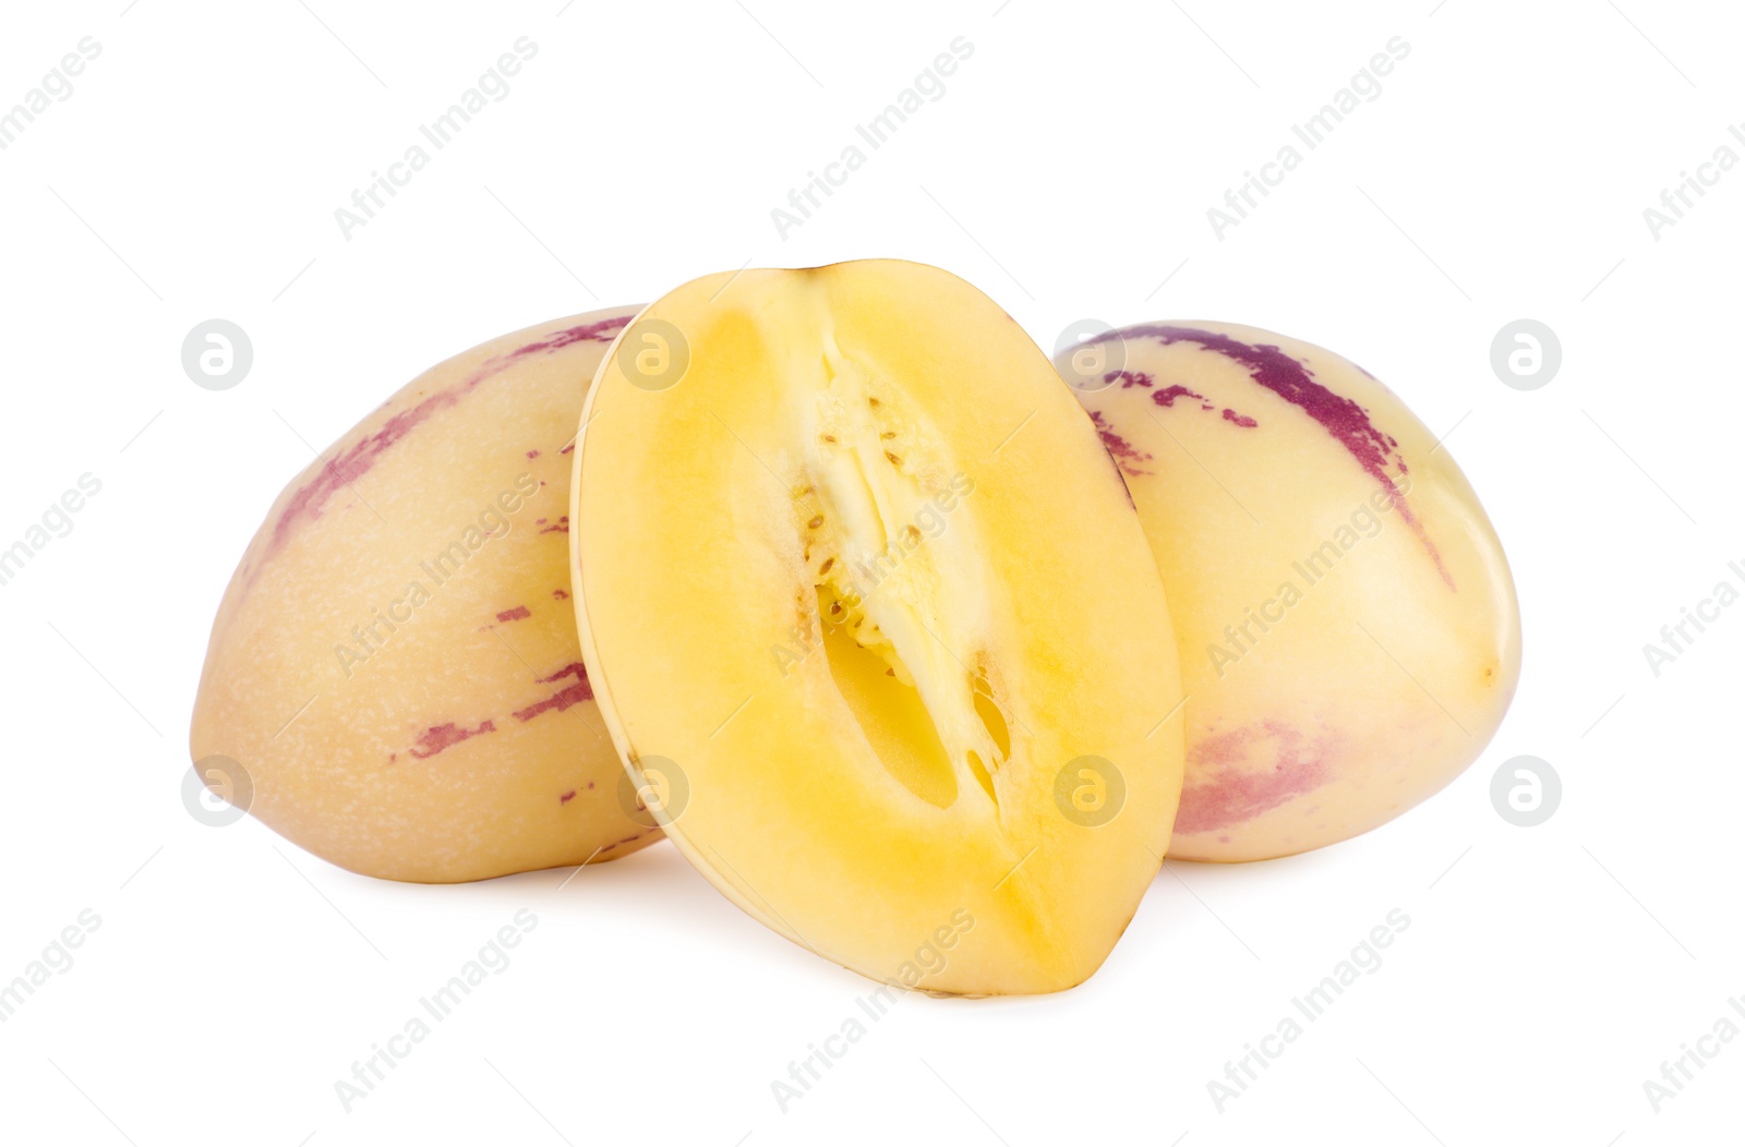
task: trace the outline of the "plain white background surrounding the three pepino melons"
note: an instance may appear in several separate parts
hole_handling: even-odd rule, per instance
[[[0,980],[80,910],[101,927],[0,1025],[0,1138],[1740,1140],[1745,1039],[1659,1114],[1642,1084],[1745,997],[1745,608],[1658,678],[1642,647],[1745,580],[1745,173],[1658,239],[1642,213],[1745,120],[1745,21],[998,3],[9,7],[0,106],[82,37],[101,56],[0,152],[0,544],[80,474],[103,488],[0,587]],[[518,37],[537,56],[511,94],[344,239],[335,207]],[[974,56],[946,94],[784,241],[771,207],[955,37]],[[1410,56],[1382,94],[1218,239],[1208,207],[1391,37]],[[567,884],[417,887],[183,809],[211,614],[302,439],[508,329],[857,256],[955,270],[1047,347],[1084,317],[1274,328],[1452,429],[1525,617],[1492,746],[1365,838],[1169,863],[1073,992],[902,999],[785,1114],[770,1083],[871,985],[670,845]],[[227,392],[180,363],[211,317],[255,347]],[[1520,317],[1564,347],[1532,392],[1488,364]],[[1488,798],[1522,753],[1564,781],[1537,828]],[[522,908],[539,924],[513,966],[346,1114],[335,1081]],[[1208,1081],[1394,908],[1412,922],[1386,964],[1220,1114]]]

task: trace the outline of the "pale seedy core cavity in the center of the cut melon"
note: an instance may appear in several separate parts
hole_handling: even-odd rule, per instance
[[[984,638],[991,572],[942,438],[902,380],[827,331],[796,420],[796,518],[838,692],[885,769],[946,809],[998,811],[1012,753]],[[937,383],[935,383],[937,385]]]

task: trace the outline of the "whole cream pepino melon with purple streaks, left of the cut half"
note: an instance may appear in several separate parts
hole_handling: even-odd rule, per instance
[[[394,880],[658,838],[619,802],[569,601],[571,441],[635,310],[431,368],[284,488],[218,607],[190,732],[197,767],[246,770],[250,812]]]

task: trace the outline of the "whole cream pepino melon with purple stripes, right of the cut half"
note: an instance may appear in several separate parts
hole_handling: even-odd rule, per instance
[[[1345,840],[1478,757],[1520,676],[1515,586],[1454,457],[1387,387],[1228,322],[1126,328],[1057,368],[1127,479],[1176,621],[1171,856]]]

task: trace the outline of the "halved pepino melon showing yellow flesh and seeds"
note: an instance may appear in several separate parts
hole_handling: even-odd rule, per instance
[[[585,422],[583,654],[686,858],[876,980],[1096,971],[1169,837],[1176,652],[1017,324],[916,263],[710,275],[625,331]]]

